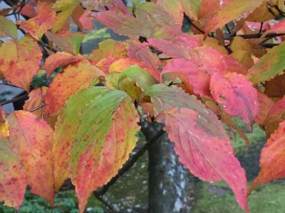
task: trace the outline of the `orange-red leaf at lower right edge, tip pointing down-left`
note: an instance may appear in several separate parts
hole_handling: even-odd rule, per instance
[[[249,189],[252,192],[257,186],[266,182],[285,178],[285,121],[281,122],[279,128],[271,134],[266,141],[266,145],[261,150],[259,160],[260,172]]]

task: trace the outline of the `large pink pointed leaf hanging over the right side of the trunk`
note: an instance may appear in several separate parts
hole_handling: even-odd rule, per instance
[[[229,138],[214,137],[201,124],[198,112],[182,108],[167,109],[158,117],[165,124],[180,162],[190,172],[209,182],[224,180],[232,188],[242,209],[247,206],[247,178]]]

